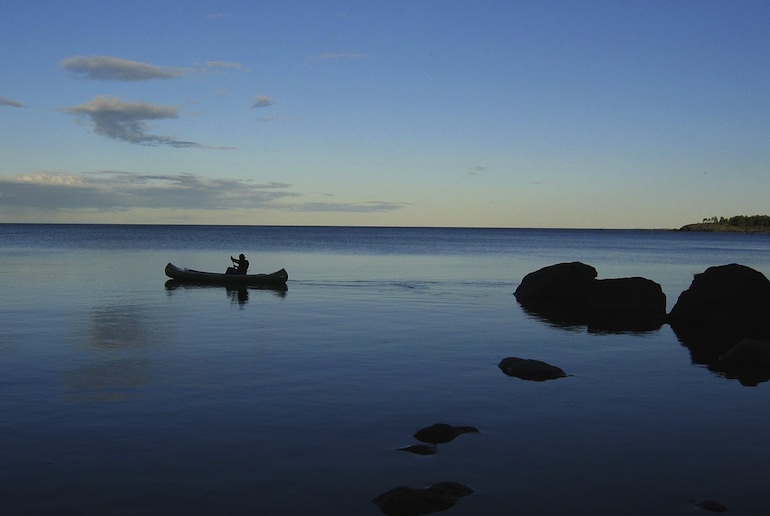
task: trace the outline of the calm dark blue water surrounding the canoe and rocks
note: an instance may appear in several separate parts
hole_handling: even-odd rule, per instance
[[[167,288],[169,261],[288,290]],[[513,291],[583,261],[770,276],[770,237],[665,231],[0,225],[0,512],[380,514],[394,487],[476,490],[447,514],[770,507],[770,384],[693,364],[668,326],[594,334]],[[509,378],[506,356],[572,374]],[[478,434],[418,456],[436,422]]]

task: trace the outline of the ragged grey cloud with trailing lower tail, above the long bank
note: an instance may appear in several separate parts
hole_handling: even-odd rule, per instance
[[[169,145],[171,147],[208,148],[196,142],[147,132],[147,120],[178,118],[179,106],[164,106],[146,102],[125,102],[117,97],[96,96],[93,100],[64,110],[88,118],[96,134],[139,145]]]

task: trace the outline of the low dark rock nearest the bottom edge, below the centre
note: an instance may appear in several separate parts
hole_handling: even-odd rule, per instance
[[[372,500],[380,511],[389,516],[419,516],[445,511],[457,505],[457,499],[473,493],[473,489],[457,482],[439,482],[415,489],[401,486]]]

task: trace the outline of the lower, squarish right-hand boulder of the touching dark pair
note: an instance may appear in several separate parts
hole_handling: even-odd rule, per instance
[[[666,294],[640,277],[594,280],[588,297],[589,330],[657,330],[666,317]]]

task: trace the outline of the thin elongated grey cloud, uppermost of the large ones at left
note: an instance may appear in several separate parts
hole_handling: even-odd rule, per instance
[[[109,56],[74,56],[62,59],[59,66],[85,79],[103,81],[148,81],[174,79],[188,72],[175,67],[155,66]]]

